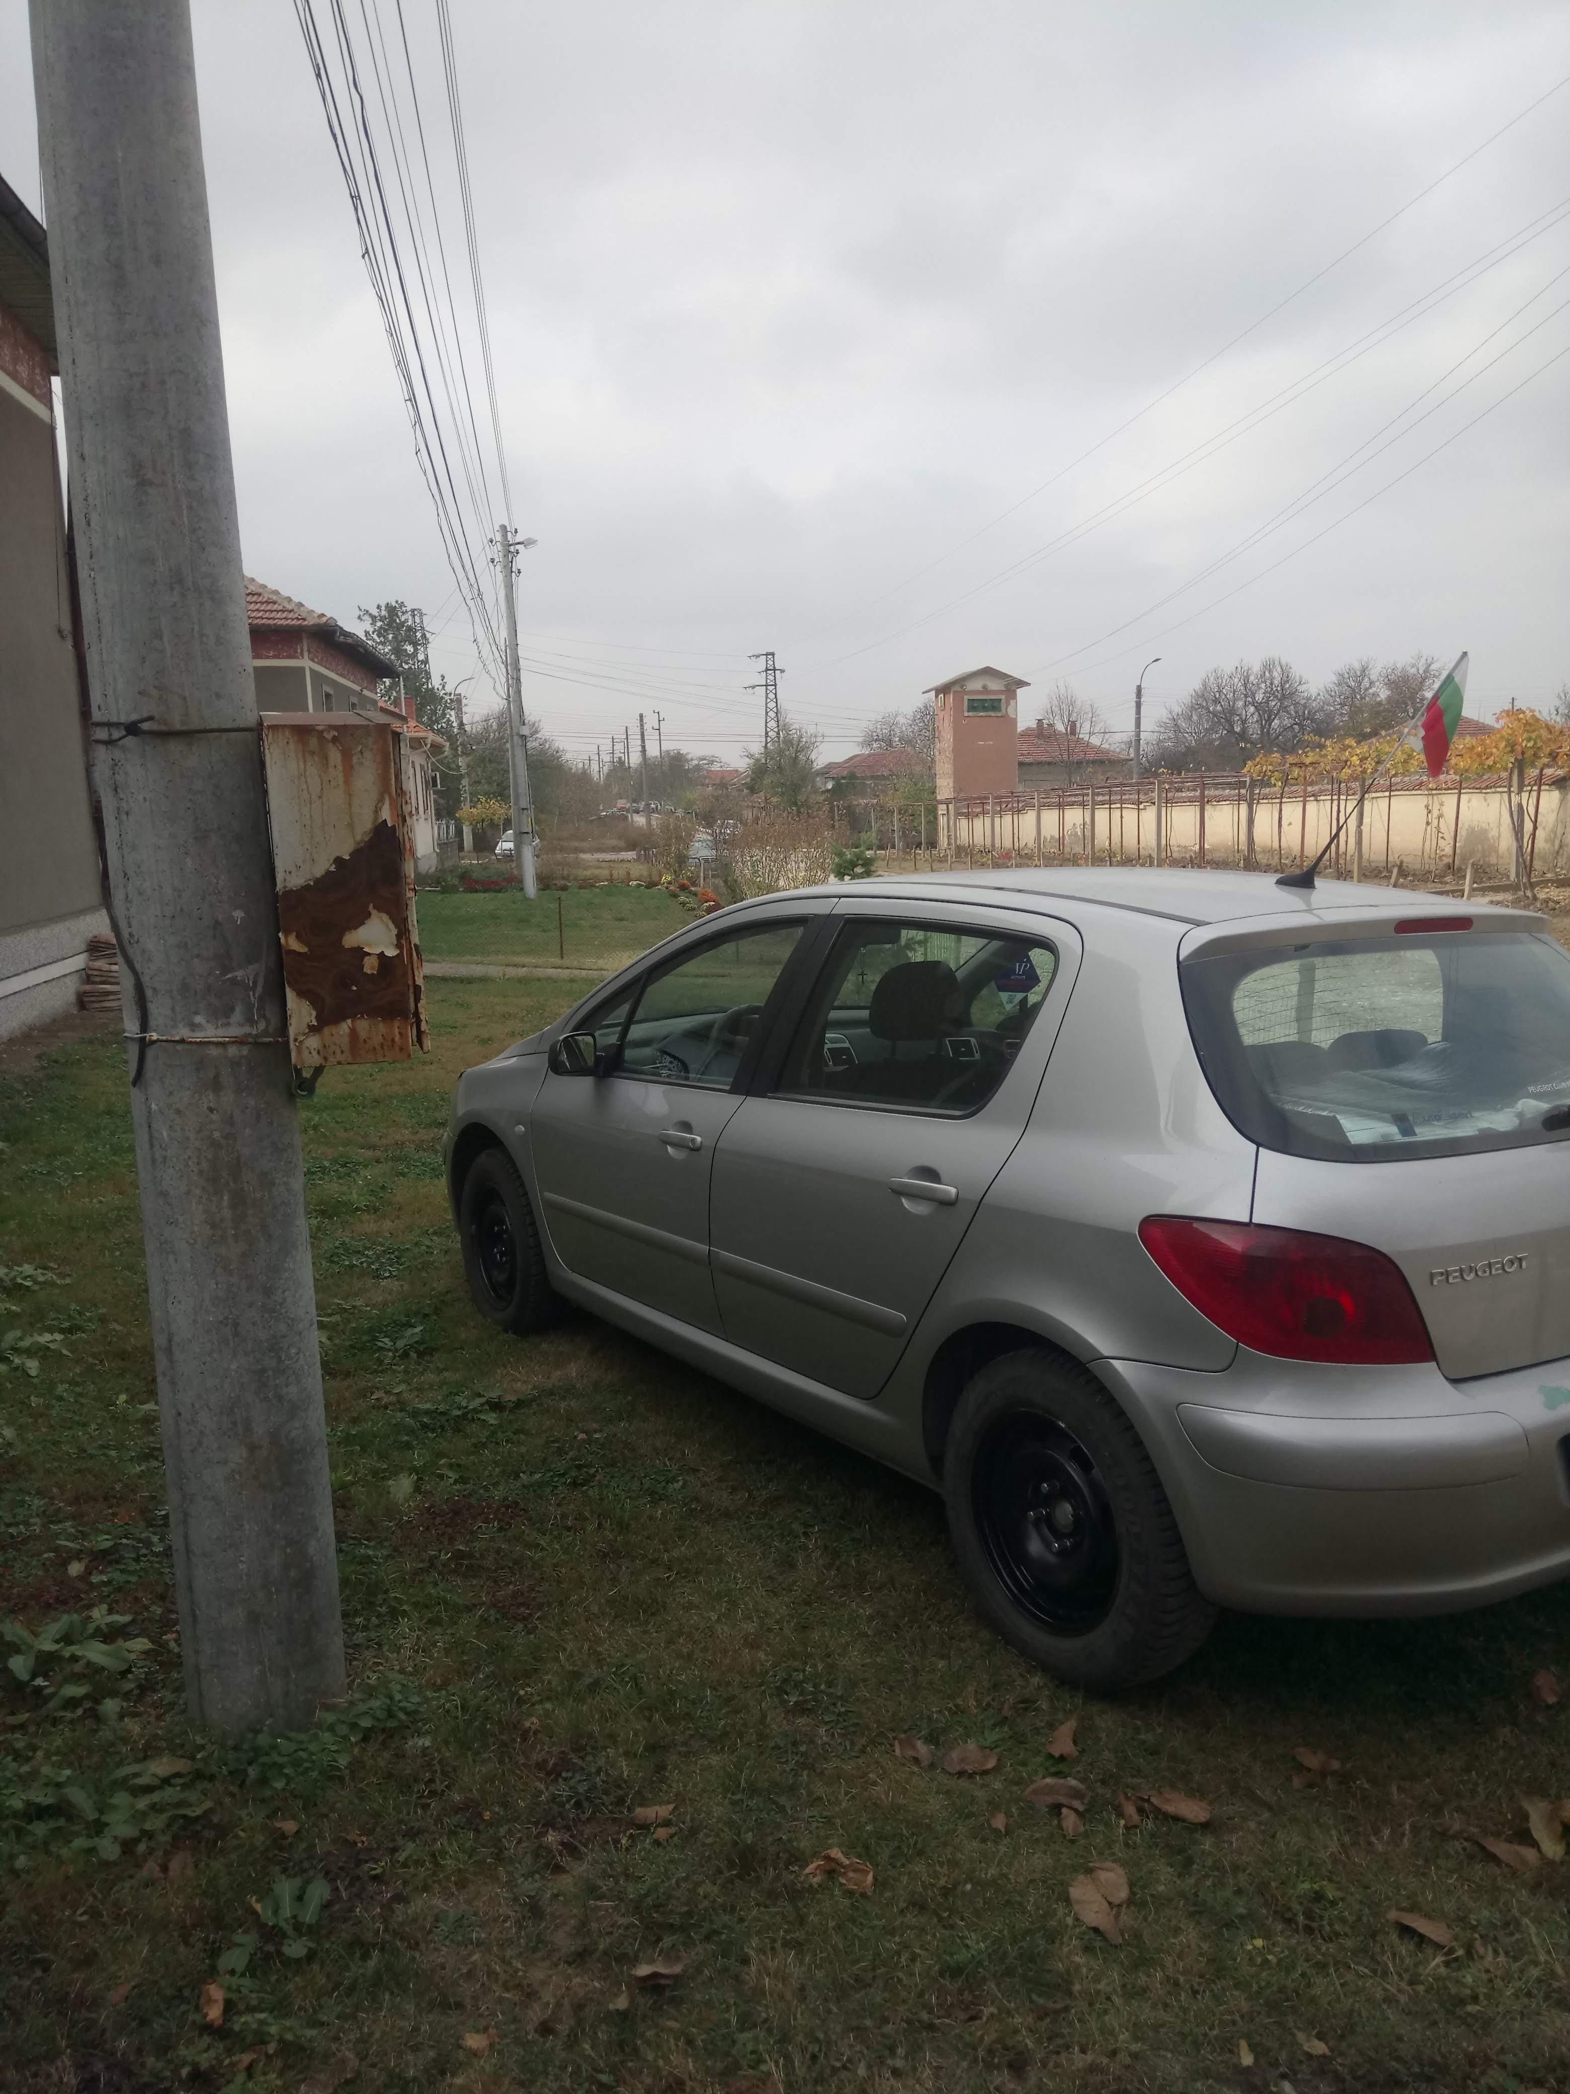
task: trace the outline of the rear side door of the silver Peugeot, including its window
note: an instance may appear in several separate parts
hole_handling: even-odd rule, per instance
[[[1024,1133],[1078,942],[961,905],[848,905],[795,1037],[714,1158],[724,1334],[846,1395],[888,1380]]]

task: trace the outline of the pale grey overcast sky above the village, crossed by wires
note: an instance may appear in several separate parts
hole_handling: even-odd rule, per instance
[[[435,151],[431,0],[404,10]],[[638,708],[653,741],[657,708],[668,745],[735,758],[764,647],[827,754],[984,662],[1032,681],[1024,716],[1061,676],[1118,727],[1149,655],[1158,712],[1260,653],[1319,681],[1467,647],[1478,716],[1570,676],[1570,88],[1520,115],[1570,75],[1562,4],[452,21],[538,538],[525,704],[574,752],[628,720],[636,745]],[[195,25],[247,567],[345,622],[421,603],[469,674],[293,10],[197,0]],[[23,0],[0,0],[0,172],[38,203]]]

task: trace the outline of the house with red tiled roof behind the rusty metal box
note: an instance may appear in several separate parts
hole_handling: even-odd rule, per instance
[[[391,720],[408,737],[414,865],[431,871],[438,863],[435,758],[446,754],[446,741],[421,727],[412,697],[391,701],[381,695],[381,685],[398,678],[398,664],[337,618],[249,574],[245,616],[251,624],[257,712],[360,714]]]

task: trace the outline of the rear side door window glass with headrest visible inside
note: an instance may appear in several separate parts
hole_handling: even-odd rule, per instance
[[[975,1112],[1034,1024],[1057,953],[1032,938],[860,921],[839,934],[779,1091]]]

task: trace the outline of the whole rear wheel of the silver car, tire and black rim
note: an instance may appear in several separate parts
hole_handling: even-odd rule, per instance
[[[1007,1353],[965,1386],[944,1447],[961,1575],[1005,1642],[1074,1686],[1160,1679],[1210,1633],[1145,1447],[1076,1361]]]

